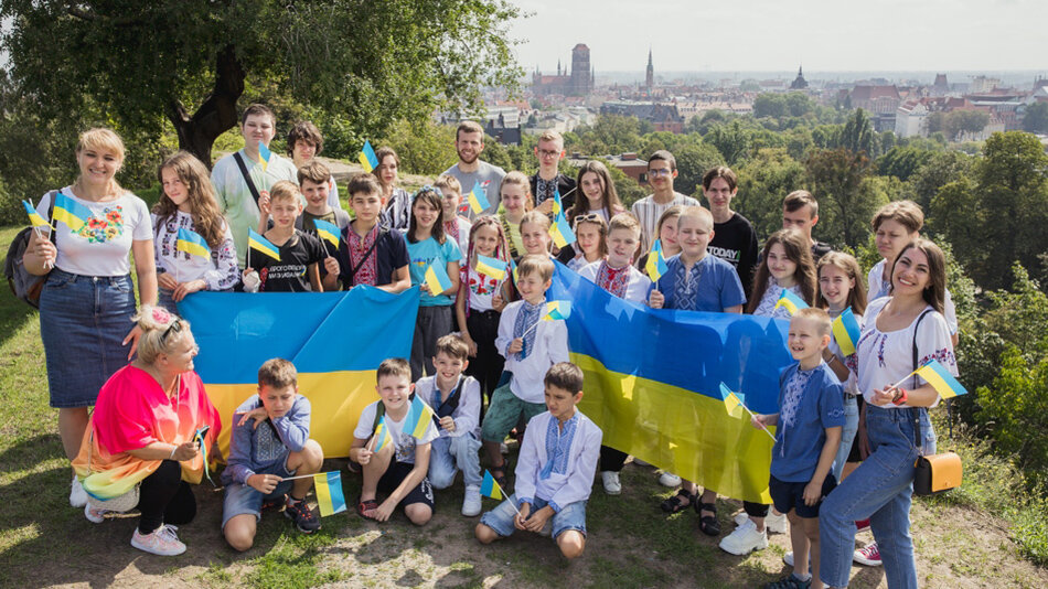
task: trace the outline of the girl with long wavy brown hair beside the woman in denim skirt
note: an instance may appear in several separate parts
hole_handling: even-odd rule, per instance
[[[160,306],[201,290],[232,290],[239,279],[233,232],[218,212],[207,169],[188,151],[160,165],[163,194],[153,206],[153,250]]]

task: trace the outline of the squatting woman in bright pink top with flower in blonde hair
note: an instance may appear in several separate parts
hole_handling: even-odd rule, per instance
[[[222,422],[193,372],[200,349],[189,323],[152,306],[143,306],[135,320],[142,330],[138,357],[99,390],[73,470],[94,500],[84,508],[94,523],[105,521],[99,501],[138,486],[142,516],[131,546],[174,556],[185,545],[172,524],[186,524],[196,515],[190,484],[205,474],[206,450]]]

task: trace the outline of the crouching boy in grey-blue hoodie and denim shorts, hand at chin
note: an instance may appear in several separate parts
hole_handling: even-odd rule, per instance
[[[285,480],[316,474],[323,465],[323,450],[309,439],[309,399],[298,394],[295,364],[266,361],[258,368],[258,396],[233,414],[228,467],[222,472],[222,533],[235,549],[244,551],[255,543],[264,504],[284,504],[299,532],[320,529],[304,501],[313,478]]]

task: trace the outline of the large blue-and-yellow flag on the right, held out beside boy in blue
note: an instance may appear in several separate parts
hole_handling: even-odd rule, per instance
[[[571,300],[571,361],[586,375],[579,406],[605,445],[723,495],[771,503],[771,439],[748,414],[727,413],[720,383],[753,411],[778,411],[779,372],[792,362],[785,321],[649,309],[559,264],[546,298]]]

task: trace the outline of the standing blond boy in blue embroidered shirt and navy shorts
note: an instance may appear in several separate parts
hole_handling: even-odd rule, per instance
[[[844,388],[823,361],[830,315],[801,309],[790,320],[788,344],[798,361],[779,377],[779,413],[753,416],[755,428],[778,426],[768,483],[776,510],[790,520],[793,574],[770,589],[822,588],[819,580],[819,506],[837,485],[831,470],[844,428]],[[811,556],[811,574],[808,560]]]

